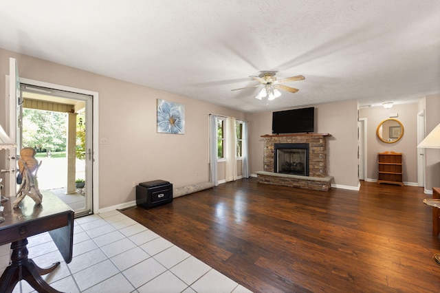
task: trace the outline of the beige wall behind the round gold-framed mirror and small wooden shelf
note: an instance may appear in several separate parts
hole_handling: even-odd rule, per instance
[[[367,121],[367,180],[377,180],[377,153],[395,151],[402,153],[403,180],[407,184],[417,185],[417,112],[419,104],[394,105],[391,109],[384,107],[362,108],[359,111],[360,118]],[[377,126],[392,114],[397,113],[395,118],[404,125],[404,135],[398,142],[387,144],[377,138]]]

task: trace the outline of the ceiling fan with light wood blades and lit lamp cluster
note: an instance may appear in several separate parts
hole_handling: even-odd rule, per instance
[[[277,80],[275,77],[275,72],[263,72],[259,76],[249,76],[250,78],[254,78],[259,81],[258,85],[254,85],[252,87],[263,87],[259,94],[256,95],[255,98],[261,100],[267,96],[267,100],[274,100],[274,98],[278,98],[281,96],[281,92],[278,89],[283,89],[285,91],[289,91],[291,93],[296,93],[299,89],[295,89],[294,87],[287,87],[287,85],[281,85],[281,83],[287,83],[290,81],[303,80],[305,79],[302,75],[282,78]],[[241,87],[239,89],[249,89],[252,87]],[[232,91],[238,91],[239,89],[231,89]]]

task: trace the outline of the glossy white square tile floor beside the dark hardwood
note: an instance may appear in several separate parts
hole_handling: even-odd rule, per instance
[[[29,257],[41,268],[62,261],[46,232],[28,238]],[[250,292],[117,210],[75,219],[71,263],[43,276],[61,292]],[[0,272],[10,245],[0,246]],[[35,292],[21,281],[14,292]]]

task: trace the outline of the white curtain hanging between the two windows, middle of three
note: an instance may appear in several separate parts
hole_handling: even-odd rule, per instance
[[[226,118],[225,125],[225,180],[226,182],[236,180],[236,129],[235,118]]]

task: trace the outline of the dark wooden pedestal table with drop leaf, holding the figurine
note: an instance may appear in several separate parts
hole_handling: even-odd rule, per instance
[[[55,270],[60,262],[49,268],[39,268],[28,259],[28,237],[49,232],[66,263],[72,261],[74,240],[74,211],[56,195],[43,196],[43,202],[36,205],[30,197],[25,197],[19,208],[13,209],[15,198],[3,203],[3,217],[0,224],[0,245],[11,243],[11,263],[0,277],[0,292],[10,293],[20,280],[28,283],[38,292],[57,293],[41,275]]]

